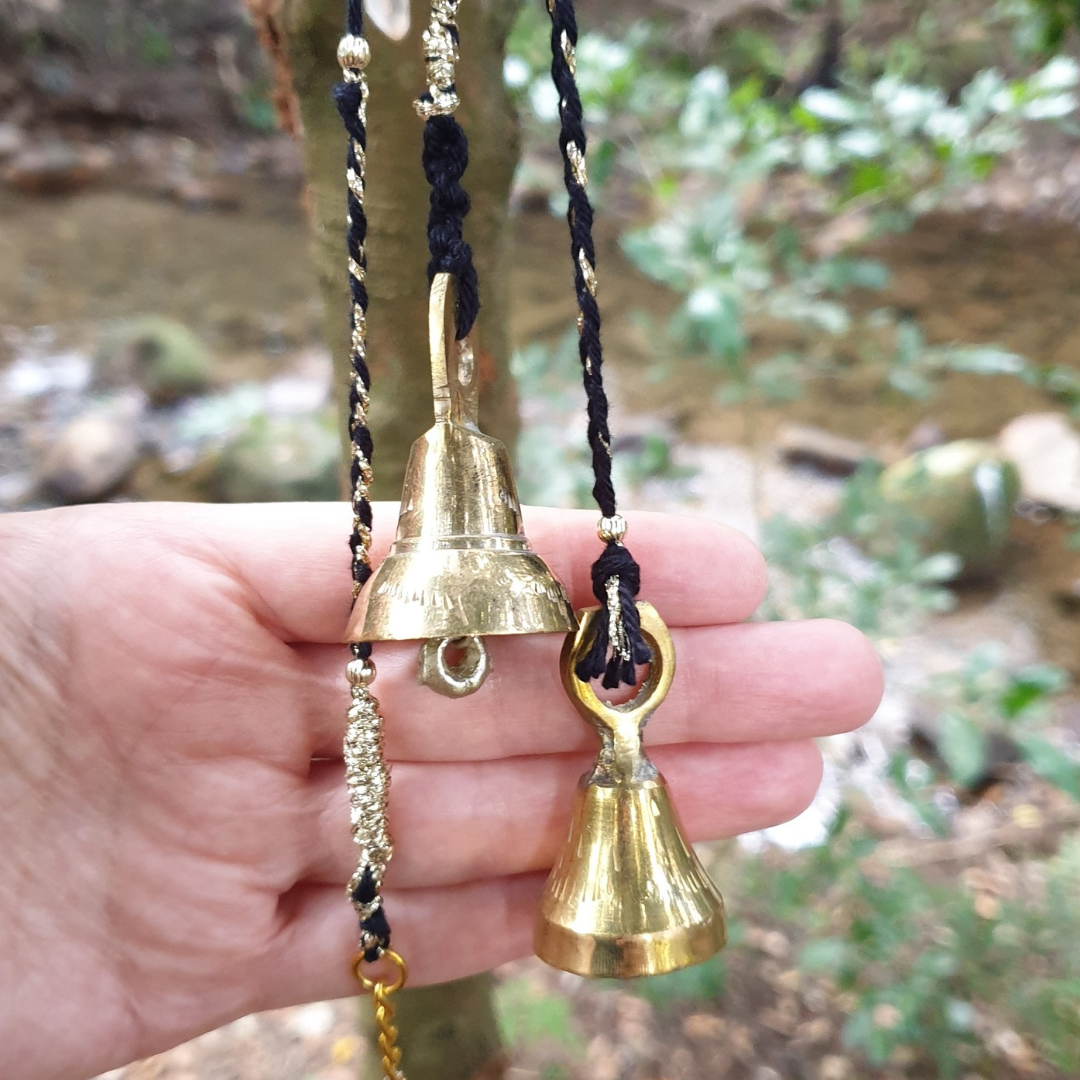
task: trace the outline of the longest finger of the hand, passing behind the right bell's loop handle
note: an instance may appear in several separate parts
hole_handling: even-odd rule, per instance
[[[859,631],[832,620],[672,630],[678,657],[650,745],[781,742],[836,734],[864,723],[881,696],[881,666]],[[483,761],[593,750],[596,737],[558,673],[561,634],[487,638],[492,672],[474,696],[442,698],[417,684],[418,643],[376,652],[373,690],[396,761]],[[346,710],[343,647],[297,647],[307,671],[299,714],[312,756],[340,757]]]

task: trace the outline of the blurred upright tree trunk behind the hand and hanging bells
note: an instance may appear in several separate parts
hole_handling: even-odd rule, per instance
[[[469,135],[464,186],[473,210],[465,237],[473,245],[483,310],[477,326],[481,423],[511,449],[517,401],[509,370],[507,204],[517,162],[517,126],[502,82],[507,33],[518,0],[462,5],[458,119]],[[326,309],[345,430],[349,379],[349,296],[345,249],[345,133],[330,100],[343,0],[285,0],[288,40],[306,131],[307,173],[315,232],[315,265]],[[413,2],[413,22],[393,42],[368,21],[372,44],[367,110],[368,363],[376,498],[397,498],[409,448],[433,422],[428,356],[428,186],[420,166],[422,123],[413,100],[426,85],[420,35],[427,5]],[[390,718],[393,723],[393,718]],[[393,919],[393,909],[390,913]],[[407,959],[407,957],[406,957]],[[409,1080],[478,1080],[502,1076],[502,1052],[490,975],[406,989],[396,999]],[[363,1015],[369,1017],[369,1010]],[[369,1044],[374,1047],[374,1036]],[[381,1076],[378,1055],[362,1080]]]

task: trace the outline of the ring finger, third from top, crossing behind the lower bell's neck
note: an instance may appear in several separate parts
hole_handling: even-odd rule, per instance
[[[821,755],[810,740],[658,747],[690,841],[735,836],[787,821],[813,798]],[[391,888],[456,885],[546,869],[569,826],[576,754],[450,765],[399,765],[391,827],[397,841]],[[356,866],[342,767],[322,762],[312,780],[313,858],[301,877],[343,883]]]

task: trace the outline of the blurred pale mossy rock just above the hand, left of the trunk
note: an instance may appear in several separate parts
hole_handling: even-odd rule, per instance
[[[212,478],[220,502],[326,502],[341,498],[335,418],[255,418],[219,454]]]

